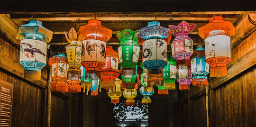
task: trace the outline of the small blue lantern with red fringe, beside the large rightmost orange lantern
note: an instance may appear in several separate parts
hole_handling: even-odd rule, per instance
[[[209,73],[210,65],[205,62],[204,46],[196,46],[191,58],[191,73],[193,74],[192,84],[201,87],[207,86],[207,74]]]

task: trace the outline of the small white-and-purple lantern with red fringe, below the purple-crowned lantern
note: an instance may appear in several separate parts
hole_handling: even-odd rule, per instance
[[[190,84],[192,83],[191,67],[180,65],[177,69],[177,82],[180,83],[179,89],[181,91],[190,91]]]

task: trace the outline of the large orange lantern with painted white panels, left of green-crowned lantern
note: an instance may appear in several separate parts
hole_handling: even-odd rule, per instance
[[[101,21],[89,20],[87,25],[79,28],[82,38],[82,66],[86,69],[85,79],[101,79],[101,68],[106,61],[106,42],[112,36],[112,30],[101,26]]]

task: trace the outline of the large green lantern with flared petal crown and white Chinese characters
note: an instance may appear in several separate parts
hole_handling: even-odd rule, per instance
[[[120,41],[118,47],[119,64],[121,66],[121,74],[124,76],[137,74],[136,65],[138,63],[140,50],[140,46],[137,44],[138,32],[138,30],[133,32],[130,29],[125,29],[122,32],[117,31],[116,33]],[[124,82],[124,85],[126,86],[127,83],[129,83],[128,85],[134,85],[134,83],[131,82]]]

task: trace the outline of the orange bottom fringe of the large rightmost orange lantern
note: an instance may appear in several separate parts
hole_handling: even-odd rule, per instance
[[[210,68],[210,77],[227,76],[227,67],[212,67]]]

